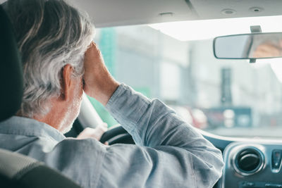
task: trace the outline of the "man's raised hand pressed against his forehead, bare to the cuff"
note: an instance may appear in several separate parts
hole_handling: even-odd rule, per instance
[[[119,83],[109,73],[102,54],[94,42],[85,52],[84,66],[85,93],[105,106]]]

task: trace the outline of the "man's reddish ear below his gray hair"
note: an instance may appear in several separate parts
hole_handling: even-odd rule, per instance
[[[68,101],[71,94],[73,67],[67,64],[63,67],[62,80],[61,80],[61,99]]]

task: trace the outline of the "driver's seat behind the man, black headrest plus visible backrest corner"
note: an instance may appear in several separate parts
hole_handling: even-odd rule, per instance
[[[23,73],[16,39],[0,6],[0,121],[18,111],[23,96]],[[0,187],[80,187],[33,158],[0,149]]]

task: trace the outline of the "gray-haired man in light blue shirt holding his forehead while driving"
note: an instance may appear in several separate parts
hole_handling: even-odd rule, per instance
[[[24,96],[17,116],[0,124],[1,148],[43,161],[82,187],[212,187],[219,180],[221,152],[161,101],[111,77],[86,16],[59,0],[8,0],[4,9],[22,56]],[[136,145],[63,136],[83,90]]]

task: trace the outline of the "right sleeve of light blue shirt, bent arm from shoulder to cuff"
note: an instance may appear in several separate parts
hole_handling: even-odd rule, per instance
[[[106,147],[98,187],[212,187],[221,177],[221,151],[158,99],[121,84],[106,108],[136,145]]]

